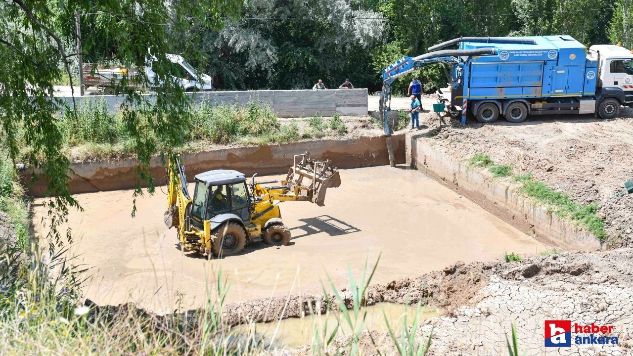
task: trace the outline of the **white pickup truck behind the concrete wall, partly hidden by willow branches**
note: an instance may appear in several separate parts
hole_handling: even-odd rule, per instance
[[[182,56],[167,54],[166,57],[172,64],[170,74],[177,79],[177,82],[185,91],[211,91],[213,87],[211,85],[210,76],[204,73],[198,73]],[[152,69],[155,63],[156,61],[148,61],[147,66],[143,68],[150,83],[153,83],[156,77],[156,73],[154,73]],[[94,73],[92,73],[92,67],[94,67],[92,63],[84,63],[84,86],[102,89],[103,94],[116,94],[116,87],[120,86],[120,84],[123,84],[125,87],[138,89],[144,87],[141,80],[137,77],[137,68],[132,67],[128,69],[97,64]],[[149,87],[149,89],[159,88],[160,83]]]

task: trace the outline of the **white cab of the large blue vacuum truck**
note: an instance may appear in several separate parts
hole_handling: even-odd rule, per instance
[[[633,91],[633,53],[624,47],[597,44],[589,48],[598,57],[598,87]]]

